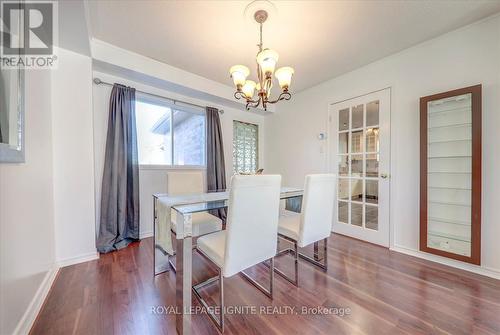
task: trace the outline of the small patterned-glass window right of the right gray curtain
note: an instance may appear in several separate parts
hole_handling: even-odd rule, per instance
[[[233,170],[254,173],[259,168],[259,126],[233,121]]]

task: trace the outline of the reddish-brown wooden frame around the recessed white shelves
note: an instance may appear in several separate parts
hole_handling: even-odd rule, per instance
[[[471,173],[471,256],[428,247],[427,243],[427,164],[428,102],[470,93],[472,96],[472,173]],[[420,250],[472,264],[481,263],[481,85],[420,98]]]

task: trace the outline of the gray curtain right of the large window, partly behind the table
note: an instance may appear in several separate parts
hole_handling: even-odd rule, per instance
[[[219,110],[213,107],[207,107],[207,189],[208,192],[226,189],[226,165]],[[214,212],[213,214],[226,220],[225,209]]]

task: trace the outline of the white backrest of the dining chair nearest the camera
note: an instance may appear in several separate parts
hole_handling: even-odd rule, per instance
[[[281,176],[231,180],[223,275],[232,276],[276,255]]]

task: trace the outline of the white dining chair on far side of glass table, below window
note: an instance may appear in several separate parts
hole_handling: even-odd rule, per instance
[[[167,172],[167,193],[169,195],[186,195],[203,193],[203,174],[198,171],[170,171]],[[177,232],[176,212],[172,211],[170,216],[172,234]],[[207,212],[192,214],[192,236],[199,237],[205,234],[222,230],[222,220]],[[174,241],[175,242],[175,241]],[[175,243],[173,243],[175,246]],[[175,249],[175,248],[174,248]],[[175,254],[175,251],[174,251]],[[175,264],[169,258],[172,269]]]

